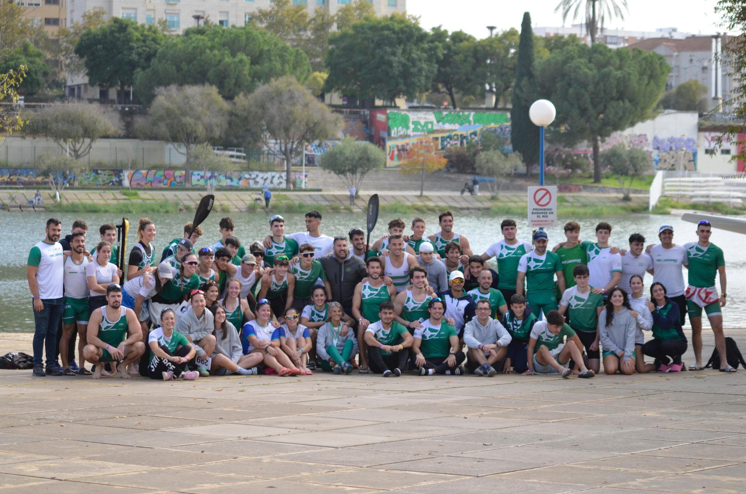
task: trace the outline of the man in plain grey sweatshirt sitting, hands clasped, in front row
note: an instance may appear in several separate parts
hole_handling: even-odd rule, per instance
[[[468,360],[466,368],[476,375],[492,377],[497,374],[493,365],[505,358],[507,347],[513,340],[507,329],[489,314],[492,306],[489,300],[483,298],[477,301],[477,317],[471,319],[464,327],[464,343],[468,346]]]

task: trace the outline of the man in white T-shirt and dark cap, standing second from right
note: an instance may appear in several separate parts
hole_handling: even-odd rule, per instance
[[[683,266],[689,266],[689,256],[684,246],[674,243],[674,227],[661,225],[658,229],[659,244],[651,244],[645,251],[653,259],[653,283],[665,287],[666,296],[679,306],[679,322],[686,322],[686,284],[684,284]]]

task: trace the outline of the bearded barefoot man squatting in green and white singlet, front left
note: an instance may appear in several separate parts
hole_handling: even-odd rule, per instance
[[[88,321],[87,345],[83,356],[95,365],[94,379],[104,371],[102,362],[119,362],[119,377],[129,378],[127,366],[145,353],[140,321],[134,310],[122,307],[122,287],[110,284],[106,289],[107,304],[94,310]]]

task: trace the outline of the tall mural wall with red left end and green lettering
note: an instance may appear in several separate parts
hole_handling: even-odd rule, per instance
[[[377,110],[371,112],[375,129],[373,142],[382,142],[380,111],[386,113],[386,166],[397,166],[412,159],[410,149],[424,140],[436,143],[436,152],[479,143],[483,132],[498,134],[510,142],[507,113],[459,110]]]

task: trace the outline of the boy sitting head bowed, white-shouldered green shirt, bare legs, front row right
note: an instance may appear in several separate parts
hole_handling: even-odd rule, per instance
[[[565,337],[567,341],[562,343]],[[577,377],[592,378],[595,372],[586,369],[580,348],[580,340],[570,325],[565,323],[565,316],[559,310],[550,310],[547,320],[536,322],[531,329],[526,354],[528,370],[523,375],[561,374],[563,378],[569,378],[573,374],[573,370],[568,368],[572,359]]]

